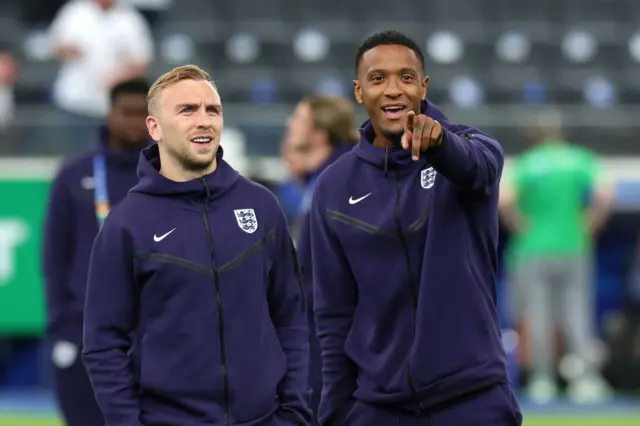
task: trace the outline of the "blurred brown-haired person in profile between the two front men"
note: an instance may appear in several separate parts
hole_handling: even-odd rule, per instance
[[[287,122],[285,137],[285,144],[294,150],[296,155],[302,157],[300,163],[303,165],[301,175],[304,192],[298,210],[297,248],[307,292],[310,331],[309,385],[313,392],[311,407],[316,414],[314,419],[317,418],[322,391],[322,358],[313,317],[313,269],[309,208],[311,207],[315,182],[320,173],[340,156],[352,150],[358,141],[354,114],[353,105],[345,98],[310,96],[298,103]]]

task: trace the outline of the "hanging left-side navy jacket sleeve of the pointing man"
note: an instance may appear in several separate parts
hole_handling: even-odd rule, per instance
[[[320,185],[311,207],[311,255],[316,329],[322,350],[318,417],[321,425],[338,425],[351,406],[358,378],[357,366],[345,354],[357,286],[342,246],[326,222]]]

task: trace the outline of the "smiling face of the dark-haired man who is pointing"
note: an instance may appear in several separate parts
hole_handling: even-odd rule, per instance
[[[354,81],[355,97],[367,109],[376,132],[388,144],[399,144],[407,113],[420,113],[429,77],[413,50],[398,44],[379,45],[364,53]]]

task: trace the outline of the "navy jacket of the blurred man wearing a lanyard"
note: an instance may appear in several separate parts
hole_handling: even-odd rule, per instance
[[[122,200],[138,183],[140,147],[112,150],[106,129],[100,146],[62,165],[51,184],[43,244],[48,335],[82,343],[84,297],[91,245],[98,233],[94,203],[93,156],[105,159],[110,203]]]

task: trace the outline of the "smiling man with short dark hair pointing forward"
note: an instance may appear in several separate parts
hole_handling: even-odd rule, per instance
[[[426,100],[419,46],[367,39],[360,143],[311,208],[322,425],[515,426],[496,300],[502,148]]]

